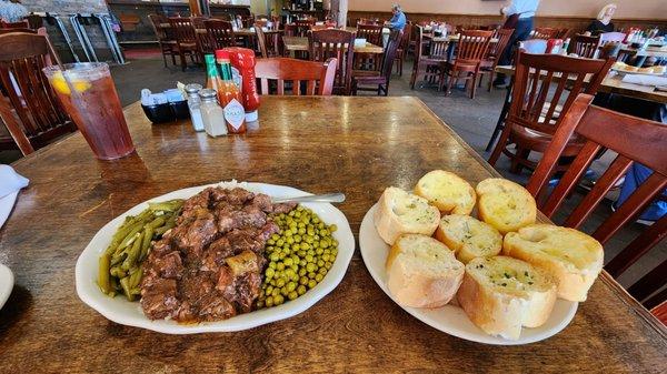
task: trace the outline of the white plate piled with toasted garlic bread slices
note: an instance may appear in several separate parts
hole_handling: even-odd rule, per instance
[[[380,289],[418,320],[469,341],[528,344],[570,323],[604,256],[595,239],[536,216],[519,184],[472,186],[437,170],[414,191],[388,186],[359,245]]]

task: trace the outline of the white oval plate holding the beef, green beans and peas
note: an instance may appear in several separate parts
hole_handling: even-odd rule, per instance
[[[173,191],[161,196],[151,199],[150,201],[166,201],[171,199],[188,199],[208,186],[216,185],[236,185],[236,182],[223,182],[221,184],[209,184],[195,186],[183,190]],[[282,185],[265,184],[265,183],[238,183],[248,191],[266,193],[273,198],[300,196],[309,194],[307,192]],[[86,250],[79,256],[76,269],[77,293],[79,297],[92,309],[98,311],[107,319],[128,326],[136,326],[157,331],[167,334],[195,334],[210,332],[233,332],[256,327],[270,322],[285,320],[297,315],[320,299],[334,291],[340,283],[347,271],[348,264],[355,252],[355,236],[352,230],[342,212],[331,204],[322,203],[305,203],[305,206],[312,209],[327,224],[336,224],[338,231],[334,233],[338,240],[338,256],[327,273],[327,276],[312,290],[297,300],[287,302],[282,305],[271,309],[260,310],[251,313],[239,314],[235,317],[218,322],[205,322],[191,325],[181,325],[175,321],[151,321],[141,311],[139,302],[129,302],[123,296],[113,299],[102,294],[96,283],[98,276],[98,259],[107,249],[111,236],[117,228],[122,223],[126,215],[136,215],[148,208],[148,202],[143,202],[123,214],[107,223],[92,237]]]

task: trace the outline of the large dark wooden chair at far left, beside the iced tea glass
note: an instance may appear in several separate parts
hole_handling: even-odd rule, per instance
[[[0,118],[11,135],[0,138],[0,149],[18,148],[26,155],[77,131],[42,73],[54,58],[44,34],[0,34],[0,87],[7,94],[0,94]]]

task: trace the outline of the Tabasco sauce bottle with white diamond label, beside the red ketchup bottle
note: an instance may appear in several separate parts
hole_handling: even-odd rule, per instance
[[[223,50],[216,51],[216,61],[220,69],[222,83],[218,89],[218,101],[225,110],[225,121],[227,122],[227,131],[230,134],[241,134],[247,131],[246,128],[246,110],[243,109],[243,99],[241,91],[233,83],[231,77],[231,63],[229,62],[229,52]]]

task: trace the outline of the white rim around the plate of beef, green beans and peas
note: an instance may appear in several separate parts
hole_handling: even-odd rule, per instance
[[[198,334],[198,333],[222,333],[222,332],[243,331],[243,330],[250,330],[253,327],[258,327],[258,326],[261,326],[261,325],[265,325],[268,323],[277,322],[280,320],[286,320],[286,319],[289,319],[289,317],[292,317],[292,316],[303,313],[305,311],[310,309],[312,305],[318,303],[326,295],[331,293],[340,284],[340,282],[347,274],[350,261],[355,253],[355,249],[356,249],[355,236],[352,234],[349,221],[347,220],[347,216],[345,215],[345,213],[342,213],[342,211],[340,211],[338,208],[334,206],[332,204],[318,204],[320,206],[325,205],[327,209],[330,209],[331,212],[338,216],[337,220],[340,220],[340,223],[345,223],[345,225],[338,224],[338,231],[335,233],[336,236],[339,236],[339,237],[337,237],[337,240],[339,241],[339,252],[338,252],[336,262],[334,263],[334,266],[337,266],[337,263],[340,261],[341,269],[339,269],[338,272],[329,271],[322,282],[318,283],[318,285],[315,289],[309,290],[308,293],[310,293],[311,291],[317,291],[317,292],[310,293],[309,297],[301,296],[295,301],[290,301],[290,303],[285,303],[280,306],[265,309],[265,310],[260,310],[260,311],[253,311],[251,313],[243,313],[243,314],[239,314],[239,315],[235,316],[235,317],[243,317],[245,316],[243,320],[249,320],[247,322],[242,322],[242,321],[238,322],[239,320],[236,320],[237,323],[235,323],[235,317],[231,317],[231,319],[222,320],[222,321],[203,322],[203,323],[188,324],[188,325],[178,324],[176,322],[169,322],[169,321],[165,321],[165,320],[151,321],[142,313],[140,316],[126,316],[126,315],[119,316],[118,313],[115,313],[113,311],[109,311],[108,307],[102,305],[102,301],[101,301],[101,300],[103,300],[102,297],[108,297],[108,296],[103,295],[99,291],[99,289],[97,287],[97,284],[94,284],[94,280],[90,280],[88,277],[88,275],[87,275],[88,269],[84,269],[86,264],[83,263],[87,261],[88,256],[96,255],[97,257],[99,257],[99,254],[103,252],[103,249],[96,249],[92,246],[92,244],[96,242],[96,240],[99,240],[100,236],[104,236],[106,231],[109,231],[109,230],[115,231],[117,229],[118,224],[128,214],[137,214],[141,210],[148,208],[148,202],[175,199],[175,198],[169,198],[169,196],[179,194],[179,193],[183,193],[183,191],[187,193],[192,192],[190,194],[190,196],[192,196],[209,186],[240,186],[240,188],[246,188],[246,189],[255,190],[255,191],[261,190],[262,188],[269,188],[269,189],[278,188],[278,189],[285,189],[286,191],[288,191],[290,194],[293,194],[293,195],[297,195],[297,194],[298,195],[301,195],[301,194],[310,195],[311,194],[309,192],[306,192],[306,191],[302,191],[302,190],[299,190],[299,189],[296,189],[292,186],[288,186],[288,185],[270,184],[270,183],[262,183],[262,182],[237,182],[236,180],[232,180],[232,181],[222,181],[219,183],[210,183],[210,184],[196,185],[196,186],[189,186],[189,188],[185,188],[185,189],[173,190],[168,193],[161,194],[159,196],[153,196],[143,202],[140,202],[140,203],[136,204],[135,206],[128,209],[123,213],[117,215],[111,221],[107,222],[102,228],[100,228],[94,233],[94,235],[91,237],[91,240],[86,245],[83,251],[79,254],[79,256],[77,259],[77,264],[74,267],[74,283],[76,283],[76,289],[77,289],[77,295],[79,296],[79,299],[84,304],[87,304],[92,310],[94,310],[96,312],[98,312],[99,314],[101,314],[102,316],[104,316],[107,320],[109,320],[111,322],[122,324],[126,326],[146,328],[146,330],[165,333],[165,334],[185,335],[185,334]],[[349,251],[346,251],[346,252],[340,251],[340,247],[341,247],[340,244],[344,244],[344,243],[349,244],[349,246],[350,246]],[[331,275],[331,276],[329,276],[329,275]],[[325,283],[325,281],[327,279],[329,279],[330,281]],[[93,292],[89,292],[87,290],[88,284],[86,284],[86,282],[93,283],[93,285],[94,285]],[[116,297],[120,299],[120,296],[116,296]],[[127,301],[121,300],[120,302],[127,302]],[[135,303],[139,307],[139,303],[138,302],[135,302]],[[248,315],[251,315],[251,314],[253,314],[255,317],[248,317]],[[229,321],[232,321],[232,323],[230,323]]]

